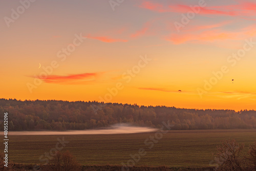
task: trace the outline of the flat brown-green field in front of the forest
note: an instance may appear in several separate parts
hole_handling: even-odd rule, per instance
[[[154,135],[9,136],[8,156],[15,163],[43,164],[39,157],[55,147],[57,138],[64,137],[69,142],[62,151],[69,150],[82,165],[121,165],[132,159],[130,154],[138,154],[139,149],[144,148],[146,154],[140,156],[136,166],[207,167],[222,140],[234,138],[243,142],[246,151],[256,140],[256,130],[189,130],[169,131],[158,142],[144,143]],[[2,144],[0,147],[4,149]]]

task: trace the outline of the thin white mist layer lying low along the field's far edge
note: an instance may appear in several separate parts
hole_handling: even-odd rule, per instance
[[[101,127],[97,130],[79,130],[79,131],[13,131],[10,135],[97,135],[97,134],[133,134],[154,132],[158,129],[152,127],[132,126],[126,123],[111,125],[110,127]]]

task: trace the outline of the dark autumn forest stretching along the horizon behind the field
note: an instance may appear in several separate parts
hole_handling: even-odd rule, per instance
[[[174,130],[255,129],[256,111],[180,109],[174,106],[97,101],[0,99],[0,126],[8,113],[10,131],[87,130],[116,123],[160,128],[169,120]]]

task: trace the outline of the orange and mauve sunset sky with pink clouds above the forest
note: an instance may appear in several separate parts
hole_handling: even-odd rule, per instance
[[[256,110],[254,1],[21,0],[0,9],[0,98]]]

